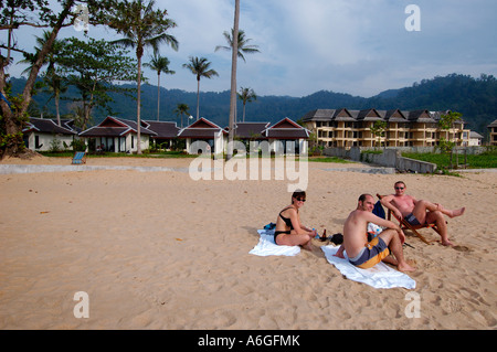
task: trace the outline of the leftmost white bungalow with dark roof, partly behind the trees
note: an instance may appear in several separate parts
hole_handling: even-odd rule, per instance
[[[73,120],[61,120],[59,126],[52,119],[30,117],[28,126],[22,130],[24,145],[34,151],[65,149],[77,136],[71,127]]]

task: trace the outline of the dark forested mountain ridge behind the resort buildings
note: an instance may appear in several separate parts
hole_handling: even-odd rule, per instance
[[[24,78],[12,78],[12,92],[19,93],[24,86]],[[133,87],[133,85],[127,85]],[[257,93],[257,92],[256,92]],[[173,114],[178,104],[187,104],[190,114],[195,115],[197,93],[179,89],[160,89],[160,119],[175,120],[180,125],[180,117]],[[61,115],[71,114],[74,106],[71,98],[77,95],[77,90],[71,88],[61,102]],[[112,115],[123,118],[136,118],[136,100],[123,95],[112,95],[114,103],[110,105]],[[53,100],[44,93],[36,94],[34,108],[44,110],[44,116],[55,113]],[[142,85],[141,94],[141,118],[157,119],[157,86]],[[478,78],[468,75],[451,74],[444,77],[436,76],[432,79],[423,79],[414,83],[411,87],[401,89],[389,89],[377,96],[364,98],[349,94],[320,90],[305,97],[288,96],[258,96],[253,103],[246,105],[246,121],[271,121],[276,122],[284,117],[298,120],[307,111],[318,108],[348,109],[450,109],[463,114],[467,127],[487,135],[486,126],[497,119],[497,79],[491,75],[483,74]],[[242,103],[239,102],[237,116],[242,118]],[[204,92],[200,94],[200,116],[215,124],[228,126],[230,111],[230,92]],[[34,115],[35,113],[33,113]],[[94,124],[101,121],[107,111],[95,110]],[[187,121],[183,120],[183,125]]]

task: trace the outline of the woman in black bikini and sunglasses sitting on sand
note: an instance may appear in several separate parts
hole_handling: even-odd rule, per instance
[[[274,242],[277,245],[303,246],[310,248],[310,239],[316,236],[316,230],[309,230],[300,223],[298,210],[306,201],[305,191],[295,191],[292,194],[292,204],[282,210],[276,220]]]

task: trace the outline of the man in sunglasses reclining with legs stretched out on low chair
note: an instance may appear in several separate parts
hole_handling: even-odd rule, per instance
[[[390,209],[395,216],[404,218],[412,226],[422,224],[436,224],[442,237],[444,246],[453,246],[448,241],[447,224],[444,214],[448,217],[461,216],[464,214],[465,207],[448,210],[442,204],[432,203],[424,200],[416,200],[414,196],[405,194],[405,183],[398,181],[394,184],[395,194],[383,196],[381,204]]]

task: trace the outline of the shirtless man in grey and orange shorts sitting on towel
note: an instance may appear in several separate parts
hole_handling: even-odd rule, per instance
[[[357,209],[349,214],[343,224],[343,244],[336,256],[345,258],[345,249],[349,262],[362,269],[371,268],[383,260],[395,265],[400,271],[414,271],[415,268],[404,259],[402,249],[404,233],[395,223],[374,215],[373,207],[374,199],[371,194],[359,196]],[[369,241],[368,223],[387,228]],[[389,257],[390,250],[395,258]]]

